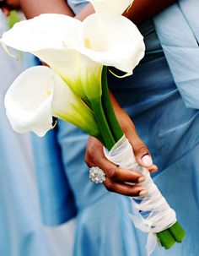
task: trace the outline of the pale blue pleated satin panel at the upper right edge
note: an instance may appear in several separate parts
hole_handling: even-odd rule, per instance
[[[154,19],[175,84],[187,107],[199,108],[199,2],[180,0]]]

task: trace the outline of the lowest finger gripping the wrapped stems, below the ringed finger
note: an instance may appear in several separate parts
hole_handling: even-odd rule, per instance
[[[105,188],[114,193],[121,193],[126,196],[134,197],[134,196],[144,196],[148,194],[148,190],[143,188],[142,186],[137,185],[127,185],[119,182],[113,182],[110,178],[106,178],[105,182],[103,182]]]

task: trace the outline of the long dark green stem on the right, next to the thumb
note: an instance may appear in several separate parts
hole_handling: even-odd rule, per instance
[[[109,87],[108,87],[108,81],[107,81],[107,67],[105,66],[103,67],[103,70],[102,70],[101,83],[102,83],[102,105],[104,108],[105,117],[110,126],[110,131],[117,142],[123,136],[123,132],[121,130],[121,126],[119,122],[117,121],[116,114],[114,112],[112,103],[110,101]]]

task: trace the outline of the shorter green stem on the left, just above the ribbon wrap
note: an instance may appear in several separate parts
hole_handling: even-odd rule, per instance
[[[116,141],[113,138],[112,133],[110,132],[109,125],[106,121],[105,113],[101,104],[101,98],[98,97],[92,99],[91,106],[94,112],[95,121],[101,133],[101,137],[105,142],[105,147],[107,150],[111,150],[114,144],[116,144]]]

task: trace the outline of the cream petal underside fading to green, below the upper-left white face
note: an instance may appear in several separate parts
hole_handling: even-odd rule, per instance
[[[33,53],[55,70],[79,97],[86,100],[101,95],[101,64],[74,50],[46,49]]]

